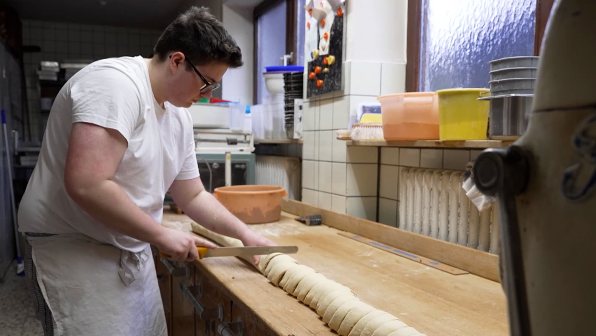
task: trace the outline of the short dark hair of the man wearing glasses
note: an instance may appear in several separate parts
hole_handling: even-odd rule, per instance
[[[236,68],[243,65],[240,47],[205,7],[193,6],[180,14],[163,31],[153,51],[161,61],[166,60],[169,53],[180,51],[199,66],[223,63]],[[187,69],[190,70],[189,64]]]

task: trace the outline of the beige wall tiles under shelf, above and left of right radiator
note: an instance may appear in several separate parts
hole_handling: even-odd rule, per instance
[[[469,149],[414,149],[381,148],[380,189],[378,221],[390,226],[398,225],[399,176],[403,167],[465,170],[481,150]]]

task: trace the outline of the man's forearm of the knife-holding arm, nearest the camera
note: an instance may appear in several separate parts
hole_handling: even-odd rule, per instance
[[[136,206],[113,181],[71,187],[68,192],[85,212],[116,232],[152,244],[162,233],[163,227]]]

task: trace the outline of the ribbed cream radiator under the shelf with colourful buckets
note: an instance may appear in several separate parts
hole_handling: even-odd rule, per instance
[[[499,253],[498,205],[479,212],[462,188],[462,171],[402,168],[398,227]]]

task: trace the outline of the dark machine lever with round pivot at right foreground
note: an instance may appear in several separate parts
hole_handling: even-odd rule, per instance
[[[501,265],[511,336],[531,336],[516,196],[529,182],[529,153],[522,147],[486,149],[476,159],[473,178],[480,192],[495,197],[501,215]]]

